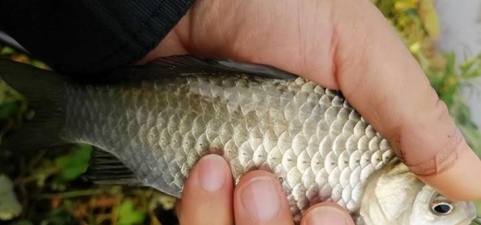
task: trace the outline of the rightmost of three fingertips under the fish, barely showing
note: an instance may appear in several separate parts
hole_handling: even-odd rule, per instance
[[[302,217],[301,225],[354,225],[354,221],[339,204],[321,202],[310,206]]]

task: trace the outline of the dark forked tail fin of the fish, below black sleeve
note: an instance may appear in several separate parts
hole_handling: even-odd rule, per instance
[[[65,112],[61,97],[65,95],[67,78],[10,60],[0,60],[0,78],[27,99],[33,112],[33,117],[26,118],[19,130],[7,135],[8,147],[14,151],[32,151],[63,143]]]

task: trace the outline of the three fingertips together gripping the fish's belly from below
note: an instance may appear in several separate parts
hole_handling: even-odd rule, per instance
[[[294,224],[281,182],[268,171],[244,175],[234,188],[224,158],[204,156],[186,180],[176,205],[181,225]],[[350,215],[333,202],[311,206],[301,225],[353,225]]]

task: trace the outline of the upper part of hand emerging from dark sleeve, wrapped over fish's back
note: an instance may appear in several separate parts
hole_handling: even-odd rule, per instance
[[[140,63],[175,54],[269,64],[340,89],[420,179],[453,200],[481,199],[481,161],[367,0],[197,0]]]

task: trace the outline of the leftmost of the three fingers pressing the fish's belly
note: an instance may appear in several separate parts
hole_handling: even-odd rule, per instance
[[[193,167],[176,209],[182,225],[233,224],[231,170],[221,156],[211,154]]]

